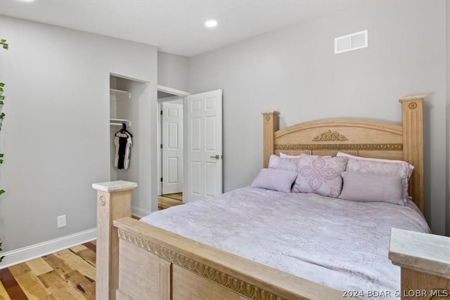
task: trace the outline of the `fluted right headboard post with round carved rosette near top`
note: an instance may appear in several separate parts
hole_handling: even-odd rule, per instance
[[[409,179],[409,195],[420,211],[423,195],[423,100],[425,95],[400,98],[403,120],[403,159],[414,166]]]

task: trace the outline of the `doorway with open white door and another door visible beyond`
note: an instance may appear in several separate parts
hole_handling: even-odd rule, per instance
[[[222,90],[191,95],[158,86],[158,105],[158,200],[181,196],[182,204],[220,195]]]

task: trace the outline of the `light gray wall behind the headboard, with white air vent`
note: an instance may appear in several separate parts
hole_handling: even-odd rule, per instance
[[[378,1],[191,58],[191,92],[224,89],[224,189],[262,167],[262,116],[281,127],[329,117],[399,122],[401,96],[427,94],[425,215],[445,231],[446,2]],[[335,55],[335,37],[368,30],[368,48]],[[245,166],[245,168],[243,168]]]

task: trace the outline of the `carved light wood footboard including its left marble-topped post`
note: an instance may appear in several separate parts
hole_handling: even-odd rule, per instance
[[[136,186],[93,185],[98,190],[96,299],[342,299],[342,291],[129,218]]]

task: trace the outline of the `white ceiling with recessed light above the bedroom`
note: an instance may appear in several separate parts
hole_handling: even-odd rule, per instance
[[[138,41],[158,46],[159,51],[190,57],[360,2],[0,0],[0,14]],[[205,27],[210,19],[216,19],[219,25]]]

